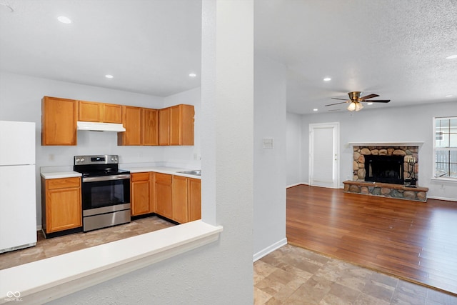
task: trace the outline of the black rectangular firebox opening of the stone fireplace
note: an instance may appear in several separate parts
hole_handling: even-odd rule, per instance
[[[365,181],[403,184],[404,156],[365,156]]]

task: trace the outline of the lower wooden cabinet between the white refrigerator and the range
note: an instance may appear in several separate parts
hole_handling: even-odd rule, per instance
[[[41,188],[45,234],[82,226],[81,178],[42,179]]]

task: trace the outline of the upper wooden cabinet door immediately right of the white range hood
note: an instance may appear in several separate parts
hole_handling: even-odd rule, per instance
[[[123,106],[122,116],[126,131],[118,133],[118,145],[141,145],[141,108]]]

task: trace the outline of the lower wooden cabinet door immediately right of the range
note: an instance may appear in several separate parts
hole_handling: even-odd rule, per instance
[[[131,174],[131,214],[150,213],[149,173]]]

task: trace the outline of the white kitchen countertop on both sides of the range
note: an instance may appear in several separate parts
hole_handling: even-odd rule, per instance
[[[122,169],[126,171],[130,171],[131,173],[144,173],[149,171],[155,171],[156,173],[161,174],[170,174],[176,176],[184,176],[194,179],[201,179],[201,176],[196,175],[189,175],[179,173],[179,171],[191,171],[194,169],[183,169],[179,167],[166,167],[166,166],[139,166],[139,167],[129,167],[129,166],[121,166]],[[41,176],[44,179],[59,179],[59,178],[70,178],[70,177],[80,177],[81,173],[76,171],[51,171],[51,172],[44,172],[41,173]]]

